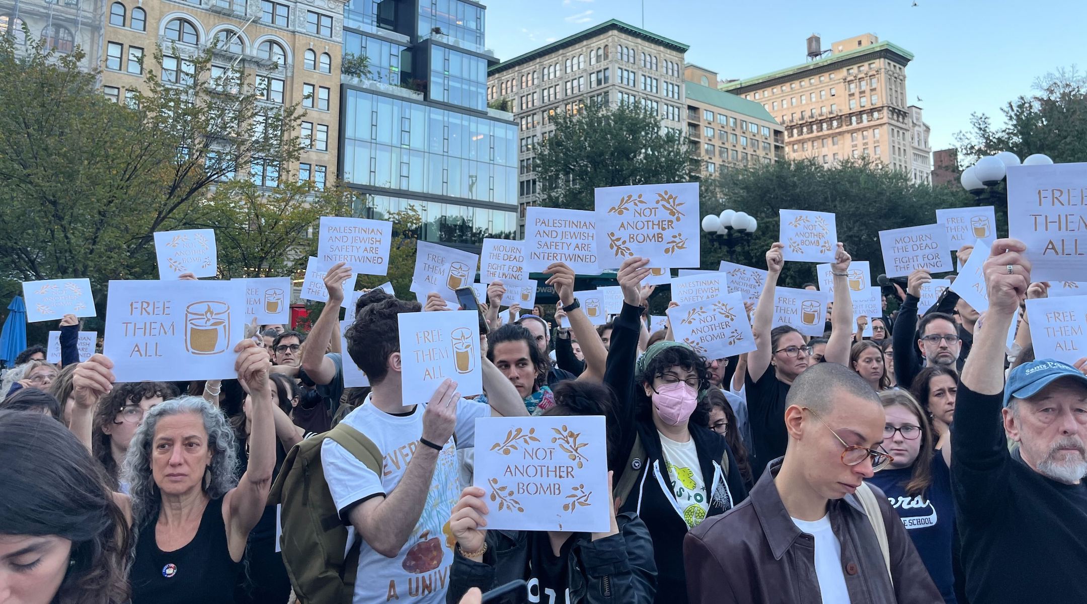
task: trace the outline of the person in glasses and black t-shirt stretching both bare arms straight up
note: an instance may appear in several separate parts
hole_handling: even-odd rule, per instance
[[[766,463],[785,454],[788,442],[785,424],[785,399],[797,376],[815,365],[812,348],[792,326],[773,326],[774,301],[777,279],[785,267],[782,243],[774,243],[766,252],[766,282],[760,303],[755,306],[751,328],[759,347],[748,353],[745,390],[748,402],[748,421],[753,444],[751,467],[755,476],[762,474]],[[823,361],[847,365],[849,347],[853,339],[853,301],[849,298],[849,263],[852,259],[838,243],[834,275],[834,306],[838,312],[830,318],[830,338],[823,350]]]

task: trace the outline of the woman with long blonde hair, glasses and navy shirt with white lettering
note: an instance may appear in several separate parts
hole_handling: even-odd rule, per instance
[[[955,604],[951,552],[954,503],[951,449],[934,450],[936,433],[917,400],[905,390],[879,393],[887,423],[883,448],[894,457],[869,482],[879,487],[902,518],[928,575],[947,604]]]

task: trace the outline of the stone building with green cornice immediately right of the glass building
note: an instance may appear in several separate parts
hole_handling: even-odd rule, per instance
[[[661,117],[666,128],[687,127],[684,54],[688,46],[611,20],[488,70],[487,100],[507,99],[518,124],[518,231],[525,207],[539,199],[533,161],[554,129],[555,112],[588,102],[632,103]]]

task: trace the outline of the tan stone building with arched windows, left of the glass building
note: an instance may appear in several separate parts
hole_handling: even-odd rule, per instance
[[[268,106],[299,104],[308,149],[284,166],[318,186],[335,180],[343,3],[340,0],[105,0],[101,42],[102,91],[117,102],[143,85],[146,70],[183,83],[186,56],[214,46],[212,75],[240,65]],[[163,48],[163,64],[154,60]],[[174,52],[176,48],[176,53]],[[176,54],[176,55],[175,55]],[[274,187],[280,167],[238,166]],[[239,177],[242,175],[238,175]]]

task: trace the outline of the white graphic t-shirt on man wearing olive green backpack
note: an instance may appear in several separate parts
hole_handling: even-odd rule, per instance
[[[418,404],[410,415],[390,415],[375,407],[370,398],[343,418],[377,445],[384,457],[384,470],[377,476],[332,439],[321,445],[321,464],[336,508],[343,508],[368,496],[388,495],[396,489],[420,446],[423,436],[423,411]],[[490,407],[461,399],[457,403],[457,443],[474,446],[475,420],[490,415]],[[453,439],[438,454],[434,478],[423,514],[397,557],[388,558],[365,541],[359,554],[359,576],[354,583],[353,604],[438,604],[446,601],[449,569],[457,543],[449,529],[449,516],[460,499],[457,478],[457,446]],[[361,537],[355,536],[357,539]]]

